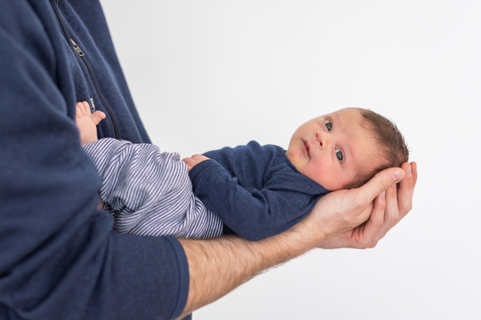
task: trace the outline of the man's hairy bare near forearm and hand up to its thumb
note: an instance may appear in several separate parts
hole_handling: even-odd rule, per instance
[[[402,169],[390,168],[379,172],[360,188],[331,192],[291,229],[264,240],[247,241],[238,236],[179,239],[190,275],[189,296],[179,319],[226,295],[259,272],[352,230],[367,221],[369,215],[380,216],[384,203],[378,195],[404,177]],[[366,226],[368,224],[379,225],[380,222],[368,222]]]

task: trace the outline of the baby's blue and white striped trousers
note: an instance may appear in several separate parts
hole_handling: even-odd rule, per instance
[[[222,221],[192,193],[178,153],[151,144],[104,138],[84,145],[102,179],[100,197],[114,230],[139,235],[208,238]]]

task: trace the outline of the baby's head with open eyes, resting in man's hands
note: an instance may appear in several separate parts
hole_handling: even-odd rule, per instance
[[[376,173],[407,162],[396,125],[369,110],[348,108],[312,119],[294,132],[287,158],[329,191],[364,185]]]

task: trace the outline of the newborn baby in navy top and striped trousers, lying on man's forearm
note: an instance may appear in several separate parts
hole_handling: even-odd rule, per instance
[[[98,112],[90,114],[86,102],[77,103],[76,122],[102,178],[104,209],[119,232],[179,237],[235,232],[259,240],[289,229],[329,191],[359,187],[408,160],[397,127],[363,109],[304,123],[287,151],[251,141],[185,158],[185,164],[177,153],[161,153],[153,145],[97,140]]]

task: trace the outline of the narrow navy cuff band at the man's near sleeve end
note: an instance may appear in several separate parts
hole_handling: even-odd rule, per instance
[[[187,296],[189,295],[189,264],[187,263],[187,257],[180,242],[171,236],[166,236],[164,238],[170,242],[170,245],[174,248],[179,263],[179,294],[177,297],[176,308],[169,318],[169,320],[173,320],[182,314],[182,311],[184,311],[185,305],[187,304]]]

